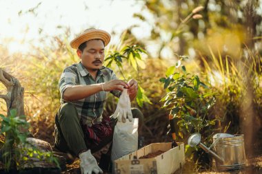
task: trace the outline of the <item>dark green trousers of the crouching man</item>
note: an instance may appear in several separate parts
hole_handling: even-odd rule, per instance
[[[137,108],[132,108],[131,110],[133,118],[139,118],[139,128],[141,128],[143,124],[143,113]],[[105,140],[101,140],[98,146],[90,149],[91,152],[99,151],[103,146],[111,142],[113,138],[112,135],[105,138]],[[72,103],[61,105],[59,111],[57,111],[54,138],[54,146],[59,149],[59,151],[70,153],[75,157],[78,156],[80,151],[88,149],[86,145],[88,140],[85,140],[86,138],[81,128],[77,109]]]

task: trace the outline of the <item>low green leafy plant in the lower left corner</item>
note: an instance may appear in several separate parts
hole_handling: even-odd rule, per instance
[[[26,138],[29,133],[26,131],[30,124],[26,122],[25,116],[16,116],[15,110],[10,111],[10,116],[5,117],[0,114],[1,134],[6,135],[6,142],[1,149],[1,157],[6,166],[6,170],[21,169],[28,160],[36,157],[39,160],[54,163],[59,167],[59,162],[52,152],[43,152],[30,144]]]

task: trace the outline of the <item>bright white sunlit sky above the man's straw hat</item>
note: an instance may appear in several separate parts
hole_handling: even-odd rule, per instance
[[[0,1],[0,46],[10,52],[28,52],[27,44],[37,44],[40,36],[63,34],[60,26],[70,28],[72,34],[79,34],[86,28],[99,28],[108,32],[123,32],[134,23],[141,23],[132,14],[141,12],[141,1],[97,0],[10,0]],[[136,33],[145,33],[143,26]],[[2,43],[12,39],[10,43]]]

